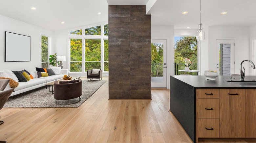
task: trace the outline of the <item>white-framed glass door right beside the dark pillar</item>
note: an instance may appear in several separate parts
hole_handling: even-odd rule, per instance
[[[151,87],[166,88],[166,40],[151,40]]]

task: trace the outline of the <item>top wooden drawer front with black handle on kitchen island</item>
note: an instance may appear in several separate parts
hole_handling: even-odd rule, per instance
[[[196,89],[198,99],[219,99],[219,89]]]

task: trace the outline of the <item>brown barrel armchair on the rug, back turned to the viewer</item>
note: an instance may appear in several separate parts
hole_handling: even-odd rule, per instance
[[[55,104],[57,105],[69,105],[69,104],[59,104],[59,100],[69,100],[75,99],[79,97],[79,101],[81,101],[82,95],[82,80],[78,78],[78,80],[70,80],[70,81],[54,81],[54,99]],[[77,102],[79,102],[77,101]],[[75,103],[77,103],[75,102]]]

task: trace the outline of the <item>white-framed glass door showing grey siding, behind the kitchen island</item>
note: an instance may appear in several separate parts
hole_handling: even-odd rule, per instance
[[[234,40],[216,40],[216,71],[219,75],[234,74]]]

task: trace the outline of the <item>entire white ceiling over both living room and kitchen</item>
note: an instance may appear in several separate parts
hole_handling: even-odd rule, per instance
[[[108,21],[108,5],[146,5],[148,1],[156,1],[147,13],[151,14],[152,25],[198,28],[199,0],[1,0],[0,14],[56,31]],[[256,0],[201,0],[202,24],[256,25],[254,9]],[[181,14],[183,11],[188,14]],[[223,11],[227,14],[221,15]]]

